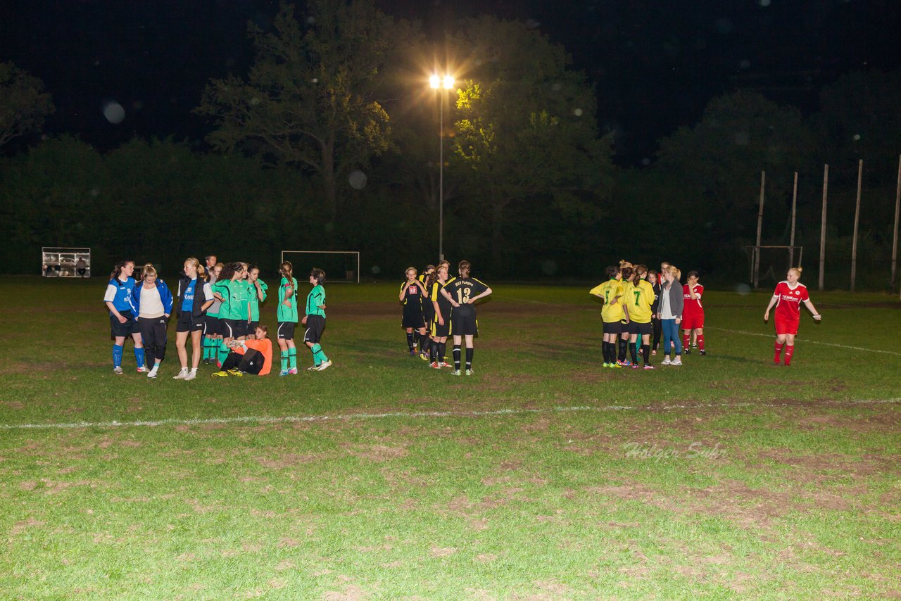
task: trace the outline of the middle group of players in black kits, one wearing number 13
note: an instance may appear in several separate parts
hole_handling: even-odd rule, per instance
[[[453,336],[454,376],[471,376],[473,340],[478,335],[475,302],[491,294],[491,288],[469,275],[472,266],[462,260],[457,277],[451,278],[451,263],[442,260],[438,267],[427,265],[417,277],[414,267],[405,271],[398,301],[404,307],[401,327],[406,331],[406,345],[411,357],[428,361],[432,369],[450,368],[445,361],[447,340]],[[461,370],[461,354],[465,342],[465,372]],[[417,351],[417,347],[419,350]]]

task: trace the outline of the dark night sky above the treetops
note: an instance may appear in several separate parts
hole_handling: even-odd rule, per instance
[[[736,88],[815,111],[819,90],[847,71],[901,62],[896,0],[377,0],[440,39],[460,19],[530,23],[566,47],[598,96],[618,161],[641,164],[655,141],[695,123]],[[298,2],[296,5],[302,5]],[[243,75],[247,23],[267,27],[264,0],[33,0],[0,6],[0,60],[41,77],[57,113],[45,132],[101,149],[133,135],[200,141],[191,113],[209,77]],[[121,123],[104,107],[122,105]]]

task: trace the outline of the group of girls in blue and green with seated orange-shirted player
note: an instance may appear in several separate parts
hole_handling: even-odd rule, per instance
[[[123,373],[124,342],[131,336],[138,372],[147,373],[148,378],[157,377],[159,365],[166,358],[168,322],[173,310],[180,364],[175,379],[195,379],[201,359],[219,369],[213,373],[216,378],[269,373],[272,342],[268,339],[268,328],[259,323],[259,305],[267,299],[268,286],[259,279],[259,268],[240,261],[220,263],[215,255],[206,257],[205,263],[203,266],[193,257],[185,260],[174,290],[159,278],[150,263],[141,269],[140,281],[132,278],[134,261],[123,260],[116,264],[104,296],[114,339],[114,373]],[[297,280],[287,261],[278,271],[281,275],[276,310],[281,350],[279,375],[287,376],[297,373],[294,341],[298,318]],[[308,369],[318,371],[332,365],[320,345],[325,330],[324,282],[325,272],[314,268],[310,272],[313,290],[307,295],[305,316],[301,320],[307,326],[304,342],[313,355],[313,364]],[[190,368],[188,337],[192,348]]]

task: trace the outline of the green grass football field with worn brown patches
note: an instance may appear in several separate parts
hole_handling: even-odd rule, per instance
[[[0,279],[2,598],[901,596],[893,297],[814,293],[773,368],[769,294],[710,292],[709,355],[633,371],[588,287],[496,285],[453,378],[334,285],[332,369],[184,382],[174,326],[114,376],[104,287]]]

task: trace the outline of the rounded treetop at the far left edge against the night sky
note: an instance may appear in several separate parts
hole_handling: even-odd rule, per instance
[[[41,79],[11,62],[0,62],[0,147],[41,129],[44,117],[55,110]]]

